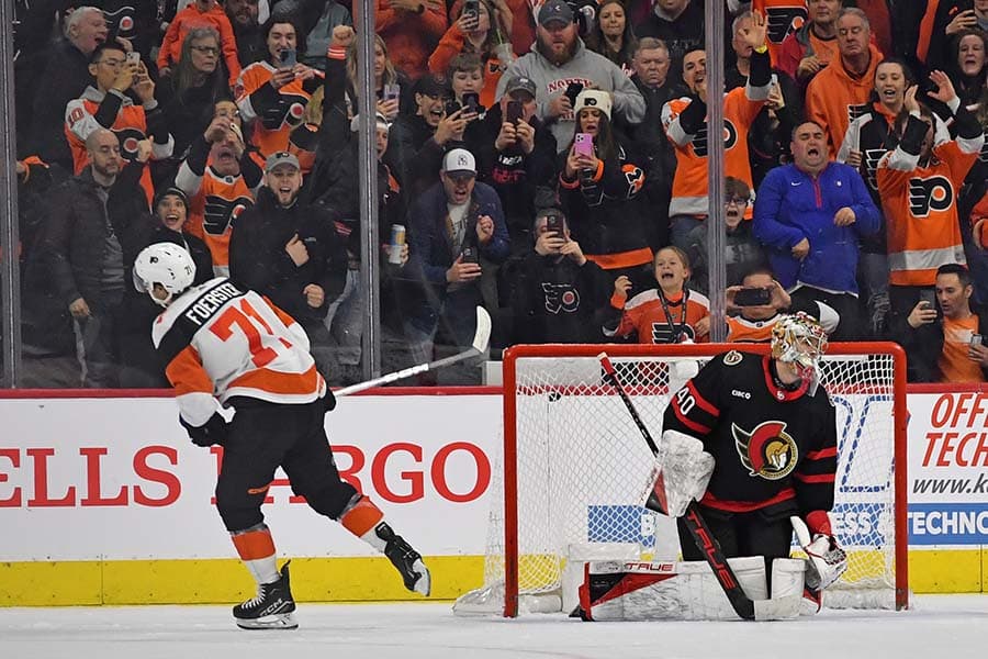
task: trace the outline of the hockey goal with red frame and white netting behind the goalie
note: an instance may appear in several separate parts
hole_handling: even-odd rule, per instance
[[[658,437],[670,394],[697,368],[727,350],[766,354],[768,346],[509,349],[484,585],[460,597],[458,613],[560,611],[568,562],[675,560],[674,522],[639,506],[653,458],[602,377],[602,349]],[[839,437],[831,520],[850,563],[824,594],[827,606],[907,605],[905,369],[905,354],[890,343],[831,344],[822,364]]]

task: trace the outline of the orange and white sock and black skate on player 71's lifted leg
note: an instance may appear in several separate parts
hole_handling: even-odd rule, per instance
[[[422,555],[395,535],[384,522],[384,513],[367,496],[358,495],[356,502],[344,512],[339,523],[361,540],[384,554],[402,576],[405,588],[428,596],[431,590],[429,570],[422,561]]]

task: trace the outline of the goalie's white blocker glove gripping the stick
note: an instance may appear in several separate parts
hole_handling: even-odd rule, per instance
[[[642,498],[647,509],[681,517],[693,500],[703,498],[714,473],[714,456],[704,444],[677,431],[665,431],[659,440],[659,457]]]

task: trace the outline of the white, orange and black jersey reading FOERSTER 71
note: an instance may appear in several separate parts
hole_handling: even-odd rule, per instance
[[[223,277],[172,302],[155,321],[151,337],[182,417],[194,426],[216,411],[214,399],[301,404],[326,391],[302,326],[267,298]]]

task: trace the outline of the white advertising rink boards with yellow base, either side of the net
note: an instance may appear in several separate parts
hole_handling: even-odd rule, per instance
[[[910,587],[988,592],[988,396],[928,388],[909,410]],[[173,400],[5,398],[0,414],[0,605],[252,594],[212,504],[218,449],[188,440]],[[494,388],[353,396],[327,416],[341,474],[428,558],[435,597],[482,581],[501,420]],[[297,599],[411,599],[385,559],[284,481],[269,500]],[[849,532],[874,523],[866,509],[835,512]]]

